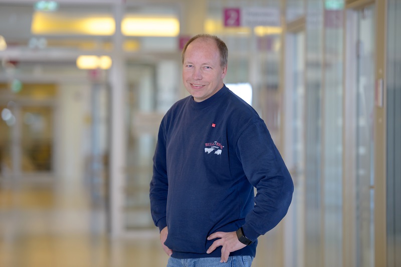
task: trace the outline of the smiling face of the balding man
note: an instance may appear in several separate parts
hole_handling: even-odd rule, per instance
[[[196,39],[184,55],[182,82],[196,102],[213,96],[223,87],[227,66],[220,65],[220,52],[213,39]]]

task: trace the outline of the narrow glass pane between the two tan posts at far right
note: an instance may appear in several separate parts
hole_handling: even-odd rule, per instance
[[[357,263],[373,266],[374,6],[358,12],[356,105]]]

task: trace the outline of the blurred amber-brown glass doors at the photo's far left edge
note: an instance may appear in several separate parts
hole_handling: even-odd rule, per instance
[[[29,86],[28,86],[29,88]],[[0,176],[44,178],[54,172],[54,105],[5,97],[0,103]]]

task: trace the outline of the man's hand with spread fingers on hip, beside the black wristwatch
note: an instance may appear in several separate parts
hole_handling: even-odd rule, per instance
[[[238,240],[236,232],[215,232],[208,237],[208,240],[215,238],[220,239],[214,241],[206,253],[211,253],[216,247],[222,246],[222,259],[220,262],[226,262],[229,259],[230,252],[246,247],[245,244]]]

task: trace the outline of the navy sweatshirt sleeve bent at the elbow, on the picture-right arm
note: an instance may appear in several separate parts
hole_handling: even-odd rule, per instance
[[[254,209],[247,214],[242,226],[244,234],[255,241],[285,216],[294,184],[262,120],[250,124],[240,134],[236,152],[245,175],[257,189]]]

